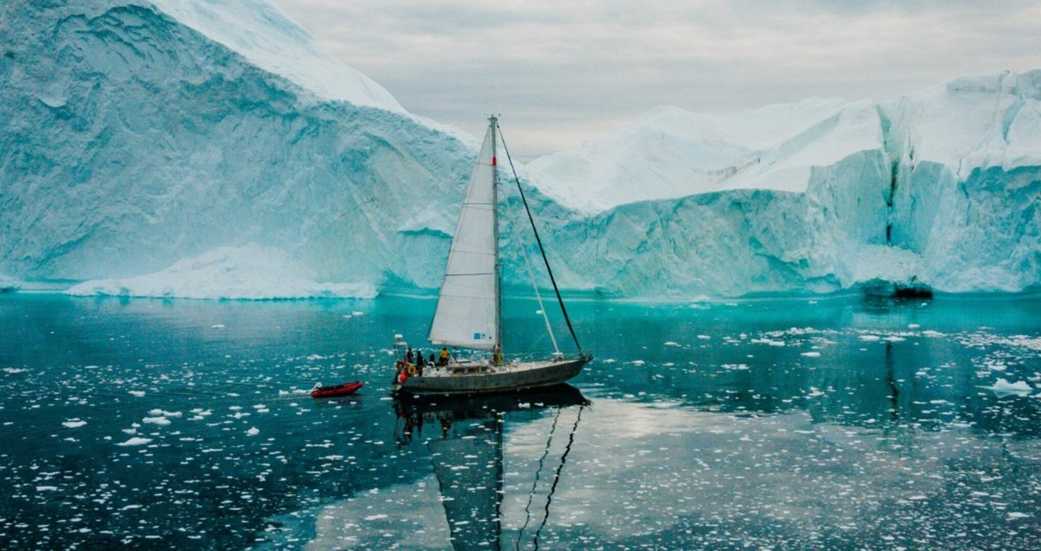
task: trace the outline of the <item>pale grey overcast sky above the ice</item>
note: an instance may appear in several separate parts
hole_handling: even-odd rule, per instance
[[[577,149],[659,105],[890,100],[1041,69],[1041,1],[272,0],[409,111],[511,153]]]

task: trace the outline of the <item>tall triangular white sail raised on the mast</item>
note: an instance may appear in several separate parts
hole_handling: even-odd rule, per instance
[[[477,157],[449,251],[430,342],[490,350],[499,344],[496,119]]]

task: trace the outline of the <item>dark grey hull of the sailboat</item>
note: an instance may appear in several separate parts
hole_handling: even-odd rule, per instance
[[[502,367],[485,367],[473,373],[450,373],[437,369],[432,374],[395,381],[390,391],[398,394],[490,394],[558,385],[578,375],[592,358],[527,362]]]

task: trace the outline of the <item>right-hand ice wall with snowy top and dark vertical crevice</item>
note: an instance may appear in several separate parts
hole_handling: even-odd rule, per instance
[[[555,227],[567,281],[608,294],[1041,283],[1041,71],[883,104],[659,108],[528,168],[587,216]]]

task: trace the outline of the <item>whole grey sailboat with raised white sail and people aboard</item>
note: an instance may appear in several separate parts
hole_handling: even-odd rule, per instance
[[[555,351],[544,360],[506,361],[503,355],[502,292],[499,262],[499,142],[509,160],[513,180],[523,200],[528,221],[531,224],[535,241],[553,284],[557,301],[567,329],[575,339],[578,356],[567,358],[557,346],[556,337],[545,309],[541,308],[541,296],[534,282],[535,296],[539,310],[545,319],[547,331]],[[513,225],[516,229],[516,225]],[[519,237],[519,236],[518,236]],[[531,263],[525,256],[531,272]],[[507,392],[544,387],[563,383],[582,371],[582,366],[592,360],[582,351],[575,329],[564,307],[560,290],[553,277],[553,269],[538,237],[535,220],[528,208],[520,181],[513,169],[505,140],[499,130],[499,120],[488,117],[488,130],[474,164],[466,196],[459,212],[459,220],[449,250],[449,260],[437,297],[437,309],[431,323],[428,340],[441,345],[442,358],[438,365],[410,365],[405,357],[406,344],[396,335],[396,350],[402,357],[397,363],[397,372],[390,386],[395,394],[481,394]],[[483,350],[490,356],[483,359],[459,359],[447,353],[448,346],[472,351]],[[417,360],[421,364],[422,359]],[[414,374],[413,374],[414,373]]]

